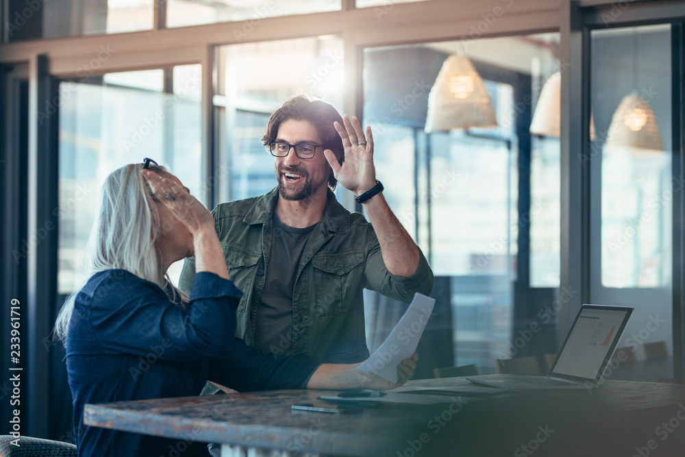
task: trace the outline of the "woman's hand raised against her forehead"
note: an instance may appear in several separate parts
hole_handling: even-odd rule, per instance
[[[150,170],[142,170],[142,176],[147,180],[153,195],[174,214],[180,223],[188,227],[190,234],[195,236],[208,227],[214,230],[212,214],[190,195],[188,189],[181,186],[173,175],[160,176]]]

